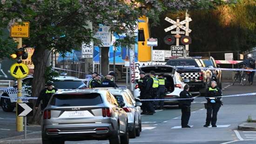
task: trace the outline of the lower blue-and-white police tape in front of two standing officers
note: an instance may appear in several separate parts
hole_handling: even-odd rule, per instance
[[[228,98],[228,97],[243,97],[243,96],[256,96],[256,92],[233,94],[233,95],[220,96],[220,97],[141,99],[141,101],[173,101],[173,100],[186,100],[186,99]]]

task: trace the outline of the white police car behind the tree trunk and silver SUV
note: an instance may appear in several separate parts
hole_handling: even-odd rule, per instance
[[[58,90],[62,89],[77,89],[86,87],[84,82],[81,79],[71,77],[71,76],[59,76],[54,81],[54,87]],[[22,79],[22,101],[27,102],[28,98],[31,97],[31,86],[33,82],[33,76],[28,76]],[[3,111],[10,112],[15,108],[17,102],[17,85],[12,87],[0,89],[0,106]]]

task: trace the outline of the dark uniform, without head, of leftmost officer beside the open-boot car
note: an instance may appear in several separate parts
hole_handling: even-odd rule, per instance
[[[137,81],[137,84],[138,84],[138,86],[139,86],[139,89],[140,89],[140,98],[141,99],[145,99],[146,98],[146,96],[145,96],[145,90],[146,90],[146,85],[147,85],[147,80],[148,80],[148,78],[147,77],[144,77],[144,78],[141,78],[141,79],[139,79],[138,81]],[[141,105],[141,109],[142,109],[142,111],[143,111],[143,113],[146,113],[147,112],[147,109],[146,109],[146,107],[145,107],[145,102],[144,101],[142,101],[142,105]]]

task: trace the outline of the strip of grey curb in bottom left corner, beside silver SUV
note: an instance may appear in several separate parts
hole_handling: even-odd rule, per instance
[[[2,140],[0,144],[41,144],[41,138],[30,138],[30,139],[17,139],[17,140]]]

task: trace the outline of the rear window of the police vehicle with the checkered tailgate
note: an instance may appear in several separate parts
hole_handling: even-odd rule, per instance
[[[194,59],[172,59],[168,60],[166,65],[176,66],[176,67],[199,67]]]

